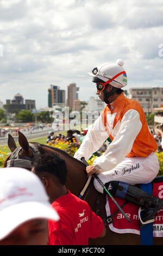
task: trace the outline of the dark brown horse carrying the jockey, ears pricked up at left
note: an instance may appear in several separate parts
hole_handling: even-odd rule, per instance
[[[33,157],[38,157],[39,155],[35,155],[34,150],[32,149],[32,145],[36,149],[36,153],[39,154],[48,154],[48,153],[57,153],[61,156],[67,165],[67,182],[66,187],[73,194],[79,197],[80,192],[83,190],[87,182],[87,174],[86,174],[86,166],[82,161],[79,161],[67,154],[65,151],[51,147],[50,145],[39,144],[37,142],[30,143],[27,141],[26,136],[23,133],[18,132],[18,143],[20,146],[16,146],[14,138],[9,135],[8,137],[8,147],[11,150],[11,154],[5,159],[3,167],[7,167],[9,161],[12,161],[14,165],[18,167],[23,167],[26,169],[31,169],[30,162]],[[20,160],[20,162],[14,163],[14,160],[10,160],[11,156],[18,152],[18,155],[15,157]],[[25,162],[25,166],[23,163]],[[26,167],[26,162],[29,165]],[[93,178],[92,178],[93,179]],[[90,206],[92,211],[98,214],[103,220],[106,218],[106,195],[99,193],[92,184],[92,180],[90,185],[87,187],[83,200],[85,200]],[[162,245],[163,237],[153,237],[153,245]],[[89,239],[89,245],[141,245],[140,235],[137,234],[118,234],[110,230],[109,225],[106,226],[106,235],[104,237],[98,237],[97,239]]]

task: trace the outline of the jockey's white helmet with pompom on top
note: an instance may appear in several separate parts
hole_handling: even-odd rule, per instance
[[[122,88],[124,86],[127,86],[127,75],[125,70],[122,68],[123,65],[124,65],[123,60],[117,59],[116,63],[107,62],[101,65],[98,65],[97,68],[92,70],[92,73],[88,73],[88,74],[93,77],[98,77],[104,82],[107,82],[109,81],[109,79],[123,72],[123,74],[121,74],[120,76],[117,76],[114,79],[114,81],[110,82],[110,84],[113,87]]]

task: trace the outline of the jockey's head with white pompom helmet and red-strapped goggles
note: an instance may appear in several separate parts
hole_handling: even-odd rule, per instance
[[[116,63],[103,63],[92,70],[92,82],[96,83],[96,94],[105,103],[111,103],[114,97],[123,92],[121,88],[127,85],[127,75],[123,66],[123,60]],[[113,97],[114,95],[114,97]]]

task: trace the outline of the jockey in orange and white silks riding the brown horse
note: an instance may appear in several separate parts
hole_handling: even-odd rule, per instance
[[[144,209],[141,223],[154,221],[154,216],[163,206],[163,200],[141,190],[136,184],[151,182],[159,172],[159,162],[155,154],[157,144],[148,129],[145,113],[139,102],[128,99],[121,88],[127,85],[127,75],[123,60],[104,63],[92,70],[92,82],[106,107],[89,126],[84,141],[74,157],[89,160],[110,137],[111,143],[103,155],[86,167],[87,175],[98,174],[112,195],[135,203]],[[94,179],[97,191],[104,193],[103,187]]]

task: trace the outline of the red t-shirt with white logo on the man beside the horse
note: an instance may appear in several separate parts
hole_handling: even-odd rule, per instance
[[[52,203],[60,220],[48,221],[48,245],[88,245],[89,238],[103,233],[104,223],[89,204],[67,192]]]

